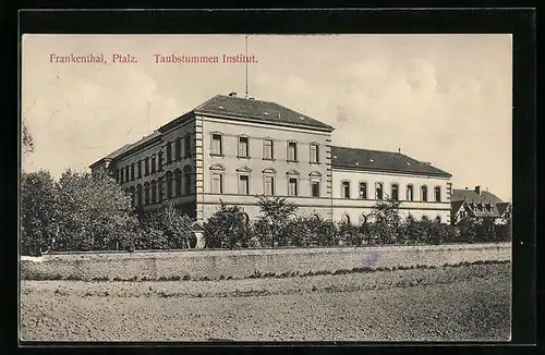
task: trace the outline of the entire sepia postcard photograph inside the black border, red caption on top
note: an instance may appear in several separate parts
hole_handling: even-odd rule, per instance
[[[21,39],[19,336],[509,342],[510,34]]]

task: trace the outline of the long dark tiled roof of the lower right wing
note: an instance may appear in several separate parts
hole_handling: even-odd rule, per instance
[[[331,166],[354,170],[378,170],[400,173],[451,176],[448,172],[400,152],[362,148],[331,147]]]

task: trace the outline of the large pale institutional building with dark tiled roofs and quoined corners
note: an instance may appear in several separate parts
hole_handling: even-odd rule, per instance
[[[451,174],[401,152],[337,147],[334,127],[276,102],[218,95],[90,166],[107,170],[134,206],[172,200],[202,223],[220,201],[250,219],[257,196],[287,197],[299,213],[362,223],[376,200],[450,220]]]

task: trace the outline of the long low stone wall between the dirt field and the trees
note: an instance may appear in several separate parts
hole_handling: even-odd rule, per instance
[[[23,279],[220,279],[254,273],[443,266],[511,260],[511,244],[80,253],[23,257]]]

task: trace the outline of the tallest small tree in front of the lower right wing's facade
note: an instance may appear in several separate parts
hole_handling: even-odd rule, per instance
[[[373,231],[383,244],[397,242],[400,235],[399,200],[388,197],[373,206]]]

